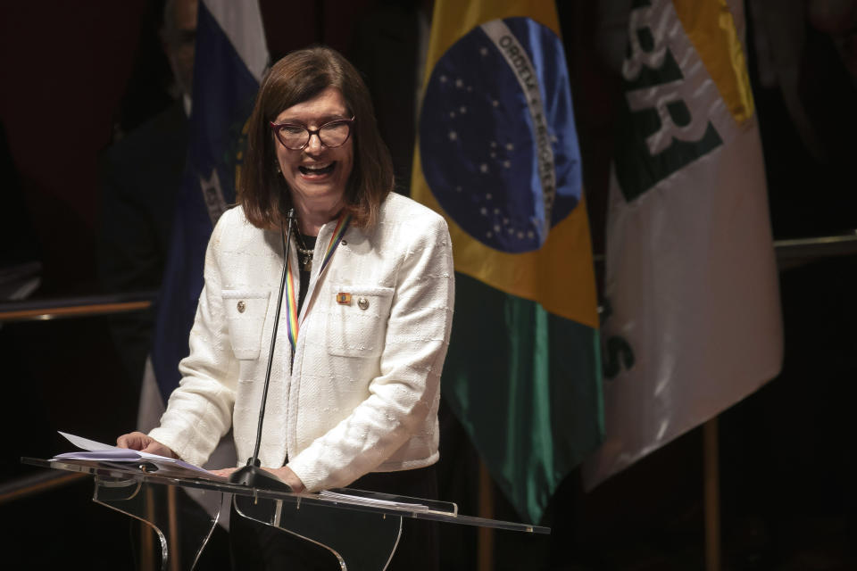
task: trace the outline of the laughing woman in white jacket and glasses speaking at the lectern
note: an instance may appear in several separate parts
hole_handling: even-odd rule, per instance
[[[205,255],[181,383],[161,425],[123,434],[119,445],[202,465],[231,427],[237,463],[253,455],[287,263],[262,467],[295,492],[348,485],[436,497],[440,372],[454,294],[445,220],[391,192],[392,162],[369,92],[332,49],[274,64],[248,129],[237,207],[220,218]],[[268,548],[250,546],[267,544],[254,525],[233,517],[233,547],[240,541],[237,549],[267,558]],[[298,561],[307,559],[303,549],[270,551]],[[434,567],[432,528],[407,519],[388,568]]]

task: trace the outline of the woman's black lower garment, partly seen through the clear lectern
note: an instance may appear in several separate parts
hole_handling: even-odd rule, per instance
[[[434,466],[401,472],[367,474],[349,488],[370,492],[437,499]],[[229,548],[232,568],[270,571],[335,571],[336,557],[312,542],[268,525],[239,516],[229,517]],[[387,571],[437,571],[439,567],[437,522],[404,517],[402,536]]]

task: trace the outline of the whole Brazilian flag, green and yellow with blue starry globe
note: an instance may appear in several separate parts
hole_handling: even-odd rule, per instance
[[[442,390],[533,523],[603,434],[580,170],[553,1],[436,2],[412,196],[453,239]]]

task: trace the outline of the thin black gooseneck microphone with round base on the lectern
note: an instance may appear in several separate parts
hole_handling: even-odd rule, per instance
[[[268,369],[265,371],[265,383],[262,385],[262,405],[259,408],[259,424],[256,426],[256,447],[253,456],[247,459],[243,468],[238,468],[229,476],[232,484],[241,484],[251,488],[265,488],[267,490],[278,490],[280,492],[291,492],[292,488],[277,476],[267,470],[260,468],[259,447],[262,445],[262,423],[265,419],[265,402],[268,401],[268,385],[270,385],[270,366],[274,360],[274,344],[277,343],[277,326],[279,325],[279,310],[283,305],[283,290],[286,289],[286,277],[288,274],[288,244],[292,239],[292,222],[295,220],[295,209],[290,208],[287,212],[288,231],[283,233],[283,223],[280,220],[280,238],[283,242],[283,274],[279,280],[279,294],[277,295],[277,312],[274,317],[274,328],[270,334],[270,350],[268,351]]]

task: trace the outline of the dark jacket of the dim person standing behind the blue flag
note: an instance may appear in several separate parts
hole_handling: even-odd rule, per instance
[[[170,243],[187,153],[187,119],[175,103],[104,151],[99,161],[98,277],[104,293],[156,292]],[[151,349],[154,311],[111,317],[131,386]]]

